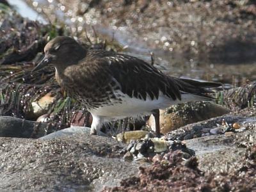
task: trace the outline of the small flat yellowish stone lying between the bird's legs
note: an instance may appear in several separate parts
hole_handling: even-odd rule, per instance
[[[127,131],[124,132],[124,142],[129,143],[131,140],[140,140],[145,138],[147,134],[150,134],[148,131]],[[119,133],[116,135],[118,141],[122,141],[123,134]]]

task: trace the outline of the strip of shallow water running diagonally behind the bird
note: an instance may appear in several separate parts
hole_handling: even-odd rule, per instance
[[[72,10],[65,12],[65,6],[56,1],[52,0],[37,0],[37,1],[28,1],[32,2],[32,8],[28,4],[24,3],[22,0],[9,1],[10,4],[14,4],[17,8],[17,11],[23,16],[28,17],[32,20],[40,20],[41,22],[46,22],[47,19],[44,19],[42,15],[37,12],[42,12],[42,7],[47,10],[47,14],[56,15],[54,17],[58,18],[60,22],[65,22],[67,28],[71,31],[83,31],[88,25],[82,17],[73,17],[74,15]],[[90,19],[90,18],[89,18]],[[93,23],[93,20],[90,20]],[[95,24],[97,21],[95,21]],[[218,63],[216,61],[211,61],[207,59],[206,61],[196,61],[193,58],[188,58],[182,54],[173,54],[170,51],[164,51],[164,49],[150,49],[147,47],[146,43],[143,40],[138,40],[134,37],[131,37],[129,33],[126,33],[125,29],[114,30],[112,28],[106,28],[100,26],[99,24],[95,25],[95,29],[100,35],[111,38],[114,33],[115,40],[123,45],[127,46],[127,52],[134,56],[138,56],[146,61],[151,61],[150,53],[154,52],[155,64],[156,67],[163,70],[166,74],[178,77],[189,77],[193,79],[204,79],[207,81],[220,81],[221,83],[230,84],[227,87],[239,86],[246,82],[246,79],[250,81],[256,80],[256,61],[239,61],[239,60],[227,60],[223,63]],[[78,31],[78,32],[77,32]],[[235,52],[236,53],[236,52]],[[250,54],[250,53],[248,53]]]

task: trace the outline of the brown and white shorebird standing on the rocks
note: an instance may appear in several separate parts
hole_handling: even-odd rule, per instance
[[[88,49],[69,36],[56,36],[44,47],[45,56],[31,71],[55,67],[58,84],[81,102],[93,117],[91,134],[111,120],[154,115],[161,135],[159,109],[173,104],[212,100],[207,93],[220,83],[168,76],[128,54]]]

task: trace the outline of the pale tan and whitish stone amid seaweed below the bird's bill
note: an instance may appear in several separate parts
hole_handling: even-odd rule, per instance
[[[44,115],[49,110],[49,106],[54,102],[55,97],[52,97],[50,93],[47,93],[39,99],[38,101],[33,101],[31,103],[31,115],[29,116],[35,116],[36,118],[40,115]]]

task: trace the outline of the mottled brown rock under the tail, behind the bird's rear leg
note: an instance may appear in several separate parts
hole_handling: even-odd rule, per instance
[[[207,120],[215,116],[229,113],[230,110],[212,102],[189,102],[160,110],[160,128],[163,134],[187,124]],[[147,124],[155,131],[154,116],[150,116]],[[200,129],[200,128],[195,128]]]

